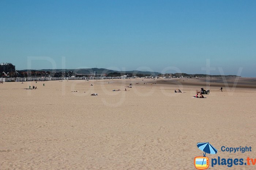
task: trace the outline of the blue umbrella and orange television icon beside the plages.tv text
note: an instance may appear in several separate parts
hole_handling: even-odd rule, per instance
[[[218,151],[209,142],[207,143],[197,143],[197,147],[204,151],[203,157],[195,157],[194,165],[196,169],[208,169],[209,158],[206,157],[207,154],[216,154]]]

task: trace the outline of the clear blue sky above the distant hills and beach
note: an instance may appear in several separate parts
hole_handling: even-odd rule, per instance
[[[256,77],[256,1],[0,1],[0,62]],[[34,60],[32,69],[52,69]],[[174,71],[168,71],[174,73]],[[220,74],[218,68],[211,74]]]

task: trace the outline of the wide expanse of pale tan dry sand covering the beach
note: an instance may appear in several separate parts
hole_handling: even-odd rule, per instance
[[[219,84],[206,84],[210,94],[198,99],[191,98],[201,88],[197,80],[142,80],[0,84],[0,169],[191,170],[194,157],[203,155],[198,142],[217,148],[210,159],[256,158],[255,88],[223,86],[221,93]],[[29,85],[38,89],[26,90]],[[252,152],[230,154],[221,146]]]

